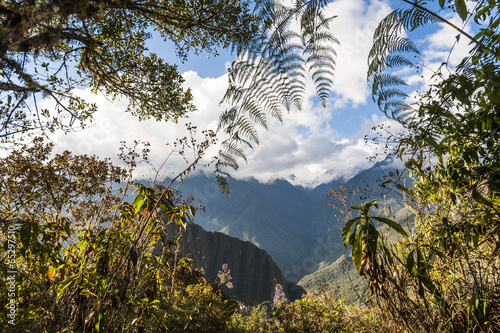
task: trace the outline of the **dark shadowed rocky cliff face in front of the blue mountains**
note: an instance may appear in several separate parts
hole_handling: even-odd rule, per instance
[[[176,225],[169,226],[170,234],[178,232]],[[215,279],[222,265],[227,264],[233,288],[225,291],[247,305],[272,301],[277,284],[292,300],[305,293],[302,287],[286,280],[266,251],[248,241],[190,224],[182,232],[180,244],[181,255],[193,259],[194,266],[203,268],[209,280]]]

